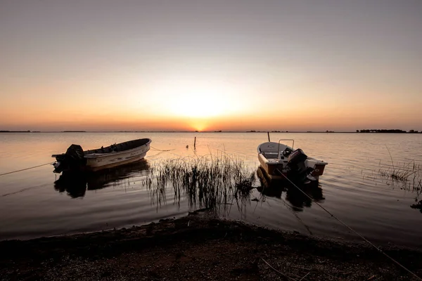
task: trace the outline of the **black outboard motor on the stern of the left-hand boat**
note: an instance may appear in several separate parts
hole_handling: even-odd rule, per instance
[[[79,170],[87,164],[87,159],[84,158],[84,150],[80,145],[70,145],[66,153],[56,155],[56,160],[54,173],[60,173],[64,170]]]

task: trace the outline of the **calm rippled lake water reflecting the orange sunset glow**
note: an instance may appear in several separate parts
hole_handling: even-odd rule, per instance
[[[194,136],[196,150],[192,149]],[[65,152],[72,143],[91,149],[134,138],[153,140],[146,162],[88,178],[83,183],[87,190],[55,185],[59,176],[50,165],[0,176],[0,240],[122,228],[184,216],[195,207],[189,207],[183,196],[175,201],[171,189],[165,202],[154,200],[142,181],[148,168],[165,159],[225,151],[256,170],[256,148],[267,141],[267,134],[1,133],[0,174],[52,162],[52,154]],[[271,140],[279,138],[294,138],[295,147],[329,163],[320,178],[319,203],[335,216],[374,242],[421,247],[422,214],[410,207],[418,192],[378,172],[391,165],[391,157],[395,166],[422,165],[421,134],[271,134]],[[359,240],[316,204],[295,196],[283,192],[281,197],[263,200],[253,190],[245,204],[231,205],[221,215],[307,235]],[[260,201],[251,201],[255,197]]]

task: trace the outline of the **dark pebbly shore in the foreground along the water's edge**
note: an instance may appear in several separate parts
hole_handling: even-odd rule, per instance
[[[422,252],[383,248],[422,276]],[[129,229],[0,242],[0,280],[418,280],[364,244],[204,212]]]

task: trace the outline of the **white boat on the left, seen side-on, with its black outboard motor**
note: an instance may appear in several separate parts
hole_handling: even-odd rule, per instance
[[[98,171],[135,162],[145,157],[146,152],[150,149],[150,144],[151,139],[139,138],[94,150],[82,150],[80,145],[70,145],[65,153],[51,155],[56,158],[53,172]]]

